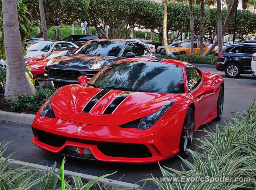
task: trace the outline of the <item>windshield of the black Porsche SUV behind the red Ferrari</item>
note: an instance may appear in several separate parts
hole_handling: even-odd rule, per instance
[[[93,54],[104,56],[118,56],[124,42],[117,41],[94,41],[84,44],[75,54]]]

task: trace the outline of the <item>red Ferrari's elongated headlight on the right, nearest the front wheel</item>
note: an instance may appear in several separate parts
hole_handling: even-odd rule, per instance
[[[174,104],[174,102],[166,102],[159,110],[146,116],[140,120],[138,125],[138,130],[148,129],[152,127],[164,114],[165,112]]]

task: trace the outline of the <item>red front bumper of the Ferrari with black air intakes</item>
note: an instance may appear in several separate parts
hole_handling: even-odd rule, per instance
[[[79,127],[82,127],[80,131]],[[176,135],[170,139],[166,137],[165,130],[150,132],[136,128],[87,125],[36,116],[32,130],[35,136],[32,142],[36,146],[50,152],[90,160],[154,163],[170,158],[179,151],[178,128],[174,130]],[[46,135],[39,134],[40,132]],[[173,145],[172,148],[166,146],[166,139],[168,144]],[[74,151],[77,148],[89,151],[90,154],[77,154]]]

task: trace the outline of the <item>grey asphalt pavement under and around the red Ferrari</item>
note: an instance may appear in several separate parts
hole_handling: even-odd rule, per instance
[[[195,64],[200,70],[218,72],[213,65]],[[216,128],[216,124],[224,125],[224,121],[234,117],[238,112],[245,109],[245,106],[252,101],[256,95],[256,77],[251,75],[242,75],[238,79],[226,78],[224,72],[219,72],[224,78],[224,110],[220,121],[212,121],[200,126],[196,132],[195,138],[205,135],[202,130],[212,130]],[[60,167],[63,156],[46,152],[34,144],[32,144],[33,134],[31,128],[27,124],[18,124],[0,121],[0,141],[10,142],[8,149],[3,156],[15,152],[12,159],[31,162],[50,166],[55,161]],[[192,162],[191,156],[187,158]],[[180,170],[182,161],[175,156],[169,160],[160,163],[163,166]],[[65,170],[80,172],[89,175],[101,176],[103,174],[118,172],[108,178],[121,180],[124,182],[136,183],[144,178],[150,178],[151,174],[155,177],[161,177],[161,171],[158,164],[116,164],[98,161],[79,160],[76,158],[66,158]],[[153,190],[156,186],[153,182],[148,182],[145,189]]]

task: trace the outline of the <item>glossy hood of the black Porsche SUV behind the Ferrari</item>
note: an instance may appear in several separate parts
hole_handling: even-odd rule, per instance
[[[63,69],[78,69],[84,70],[89,64],[102,63],[104,66],[119,60],[119,58],[112,56],[101,56],[101,55],[88,55],[88,54],[72,54],[68,56],[60,56],[54,59],[54,63],[51,68],[63,68]]]

